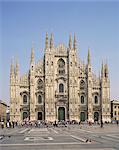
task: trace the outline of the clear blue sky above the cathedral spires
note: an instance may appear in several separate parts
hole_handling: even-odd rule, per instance
[[[111,100],[119,100],[119,2],[118,1],[1,1],[0,99],[9,104],[11,59],[18,59],[20,75],[29,69],[31,47],[35,62],[43,58],[45,34],[54,44],[68,46],[76,34],[78,57],[86,63],[88,47],[93,72],[108,62]]]

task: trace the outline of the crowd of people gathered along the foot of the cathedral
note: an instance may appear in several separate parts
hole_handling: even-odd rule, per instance
[[[106,124],[108,124],[109,122],[105,122]],[[119,121],[116,122],[117,125],[119,124]],[[72,121],[54,121],[54,122],[46,122],[46,121],[29,121],[28,119],[24,119],[22,122],[18,122],[18,121],[7,121],[6,123],[4,121],[0,122],[0,126],[1,128],[15,128],[15,127],[67,127],[68,125],[99,125],[101,128],[103,127],[103,121],[101,122],[82,122],[82,121],[76,121],[76,120],[72,120]]]

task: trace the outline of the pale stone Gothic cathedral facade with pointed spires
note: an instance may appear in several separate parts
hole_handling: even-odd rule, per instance
[[[90,50],[87,63],[77,57],[76,37],[54,46],[53,35],[45,39],[43,61],[34,61],[31,50],[28,73],[20,76],[19,64],[11,63],[10,119],[111,121],[108,65],[101,75],[92,72]]]

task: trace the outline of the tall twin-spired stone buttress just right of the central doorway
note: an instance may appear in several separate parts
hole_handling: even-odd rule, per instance
[[[77,65],[77,43],[74,35],[73,47],[72,38],[69,36],[69,119],[79,120],[79,98],[78,98],[78,65]]]

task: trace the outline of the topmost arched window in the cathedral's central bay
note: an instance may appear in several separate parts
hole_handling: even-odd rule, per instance
[[[65,74],[65,61],[62,58],[58,60],[58,74]]]

